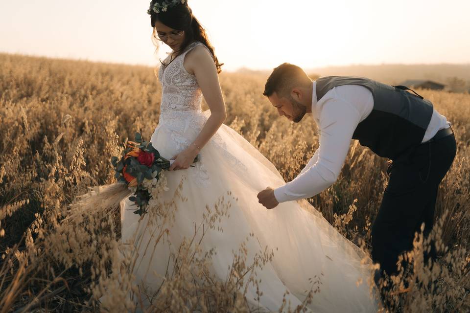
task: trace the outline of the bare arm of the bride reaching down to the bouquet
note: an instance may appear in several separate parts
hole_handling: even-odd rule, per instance
[[[217,75],[217,68],[215,67],[214,60],[209,50],[204,46],[197,46],[192,49],[185,57],[184,67],[189,73],[196,76],[197,83],[211,110],[211,116],[207,119],[201,132],[189,147],[176,157],[173,157],[175,161],[171,165],[170,171],[187,169],[192,164],[200,149],[202,149],[215,132],[217,132],[217,129],[227,117],[224,98]]]

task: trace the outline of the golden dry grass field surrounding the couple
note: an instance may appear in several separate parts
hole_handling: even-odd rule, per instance
[[[293,179],[318,147],[311,117],[299,124],[280,118],[262,96],[261,75],[222,72],[220,81],[226,124],[270,159],[285,180]],[[438,262],[423,264],[427,246],[418,237],[406,256],[412,271],[396,279],[385,310],[469,312],[470,95],[420,93],[452,122],[457,156],[436,205]],[[113,301],[101,310],[132,309],[125,300],[135,288],[126,276],[128,264],[113,262],[119,216],[87,217],[78,225],[60,221],[87,187],[115,181],[110,158],[120,155],[127,138],[135,132],[150,138],[160,97],[149,67],[0,54],[0,313],[97,312],[105,288]],[[387,182],[385,161],[353,142],[338,181],[309,199],[366,250]],[[235,296],[240,287],[230,278],[222,285],[206,280],[193,286],[188,277],[204,277],[207,267],[188,257],[194,249],[182,249],[186,254],[178,262],[186,266],[156,295],[155,311],[245,312]],[[236,262],[240,272],[250,268],[250,260]],[[404,289],[405,281],[410,289]],[[429,287],[429,281],[437,286]]]

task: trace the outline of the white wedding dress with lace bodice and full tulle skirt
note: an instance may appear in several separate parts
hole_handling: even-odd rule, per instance
[[[185,53],[159,71],[163,88],[161,115],[151,142],[165,158],[188,147],[208,117],[201,110],[202,93],[196,78],[183,67],[186,53],[196,45],[202,44],[191,44]],[[266,246],[274,250],[273,260],[257,270],[256,278],[261,280],[259,288],[263,292],[259,303],[254,300],[256,287],[250,286],[246,293],[246,301],[254,307],[278,311],[285,291],[289,291],[286,300],[295,308],[305,299],[305,291],[312,288],[309,278],[320,278],[320,291],[313,294],[308,306],[311,312],[377,311],[378,303],[368,284],[370,259],[305,200],[281,203],[272,210],[259,204],[259,191],[267,186],[281,186],[284,180],[271,162],[230,127],[220,127],[203,147],[195,167],[164,175],[169,190],[159,201],[171,201],[181,180],[186,178],[181,195],[187,201],[178,204],[174,224],[169,229],[168,241],[173,248],[177,249],[183,238],[192,238],[195,225],[203,220],[206,204],[213,207],[221,196],[228,199],[227,192],[231,191],[237,201],[232,202],[230,217],[221,221],[223,232],[206,229],[201,243],[203,251],[216,250],[212,255],[212,272],[222,281],[227,278],[234,251],[238,251],[250,233],[254,236],[246,245],[248,258],[264,251]],[[311,209],[307,211],[302,207],[304,204]],[[139,221],[140,216],[133,212],[135,208],[128,199],[121,202],[122,242],[133,238],[136,231],[144,242],[155,240],[150,236],[150,226],[139,227],[148,217]],[[144,248],[142,245],[137,249]],[[134,270],[136,279],[155,286],[167,268],[168,245],[158,244],[153,255],[138,252],[141,259]]]

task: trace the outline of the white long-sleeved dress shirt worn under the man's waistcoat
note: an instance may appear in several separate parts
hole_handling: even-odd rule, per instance
[[[314,81],[312,114],[320,131],[320,146],[295,179],[274,190],[276,200],[285,202],[313,197],[331,186],[341,172],[357,124],[372,112],[373,107],[372,92],[358,85],[335,87],[318,101]],[[446,117],[434,110],[423,142],[449,125]]]

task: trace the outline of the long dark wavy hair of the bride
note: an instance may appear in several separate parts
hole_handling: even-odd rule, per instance
[[[161,3],[162,0],[152,0],[150,2],[150,8],[153,7],[155,3]],[[176,56],[183,53],[188,45],[195,41],[199,41],[207,46],[209,51],[211,51],[212,58],[214,59],[215,67],[217,67],[217,73],[221,72],[221,66],[223,63],[219,63],[219,60],[215,56],[214,47],[209,42],[207,38],[206,30],[201,26],[201,23],[194,17],[192,14],[191,8],[187,5],[188,1],[185,3],[180,3],[175,6],[168,7],[166,11],[160,10],[160,13],[155,13],[153,10],[150,10],[150,23],[153,27],[153,36],[157,35],[155,29],[155,22],[159,21],[165,24],[166,26],[185,31],[185,40],[181,44],[178,51],[176,51]]]

